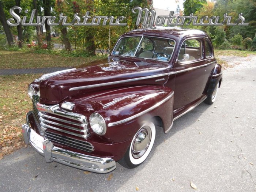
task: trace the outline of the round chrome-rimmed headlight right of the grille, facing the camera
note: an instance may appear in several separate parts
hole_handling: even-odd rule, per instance
[[[104,135],[106,133],[106,122],[100,114],[91,114],[89,121],[91,128],[95,133],[97,133],[98,135]]]

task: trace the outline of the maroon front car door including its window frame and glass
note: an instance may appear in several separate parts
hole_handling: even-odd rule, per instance
[[[205,67],[204,38],[184,39],[175,63],[174,114],[180,114],[205,93],[210,72]]]

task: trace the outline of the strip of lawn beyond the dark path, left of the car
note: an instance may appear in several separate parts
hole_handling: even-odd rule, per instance
[[[37,54],[31,52],[0,50],[0,69],[22,69],[42,67],[75,67],[90,61],[100,60],[104,56],[65,57],[59,54]],[[64,54],[64,53],[61,53]]]

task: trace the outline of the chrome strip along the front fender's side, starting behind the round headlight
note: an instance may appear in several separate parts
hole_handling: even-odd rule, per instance
[[[112,126],[115,126],[115,125],[119,125],[119,124],[125,123],[125,122],[130,121],[130,120],[132,120],[132,119],[134,119],[134,118],[137,118],[137,117],[139,117],[139,116],[142,116],[143,114],[145,114],[145,113],[147,113],[147,112],[150,112],[151,110],[157,108],[159,105],[162,105],[164,102],[166,102],[168,99],[170,99],[170,98],[173,96],[173,94],[174,94],[174,92],[173,92],[172,94],[170,94],[169,96],[167,96],[166,98],[164,98],[162,101],[156,103],[156,104],[153,105],[152,107],[150,107],[150,108],[148,108],[148,109],[146,109],[146,110],[144,110],[144,111],[142,111],[142,112],[140,112],[140,113],[138,113],[138,114],[135,114],[135,115],[133,115],[133,116],[131,116],[131,117],[125,118],[125,119],[120,120],[120,121],[116,121],[116,122],[113,122],[113,123],[109,123],[109,124],[108,124],[108,127],[112,127]]]

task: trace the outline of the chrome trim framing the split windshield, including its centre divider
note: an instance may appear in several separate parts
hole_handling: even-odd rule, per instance
[[[124,37],[121,37],[120,39],[118,39],[116,45],[114,46],[113,51],[111,52],[111,55],[114,56],[114,57],[116,57],[116,56],[121,56],[121,55],[113,54],[114,50],[116,49],[116,46],[117,46],[118,42],[121,41],[121,39],[127,38],[127,37],[140,37],[140,36],[142,36],[142,39],[143,39],[144,37],[151,37],[151,38],[172,40],[172,41],[174,41],[173,52],[174,52],[174,49],[176,49],[176,41],[175,41],[174,39],[172,39],[172,38],[158,37],[158,36],[156,37],[156,36],[151,36],[151,35],[129,35],[129,36],[124,36]],[[140,39],[140,40],[142,40],[142,39]],[[140,45],[140,43],[141,43],[141,41],[139,42],[139,45]],[[138,45],[138,47],[139,47],[139,45]],[[136,50],[136,52],[137,52],[137,50]],[[135,52],[135,54],[136,54],[136,52]],[[152,59],[152,60],[155,60],[155,61],[160,61],[160,62],[164,62],[164,63],[169,63],[169,61],[170,61],[170,60],[172,59],[172,57],[173,57],[173,52],[172,52],[172,56],[170,57],[170,59],[169,59],[168,61],[162,61],[162,60],[154,59],[154,58],[143,58],[143,57],[136,57],[136,56],[133,56],[133,57],[140,58],[140,59],[146,59],[146,60],[147,60],[147,59]],[[135,55],[135,54],[134,54],[134,55]],[[123,57],[131,57],[131,56],[123,56]],[[132,57],[132,58],[133,58],[133,57]]]

